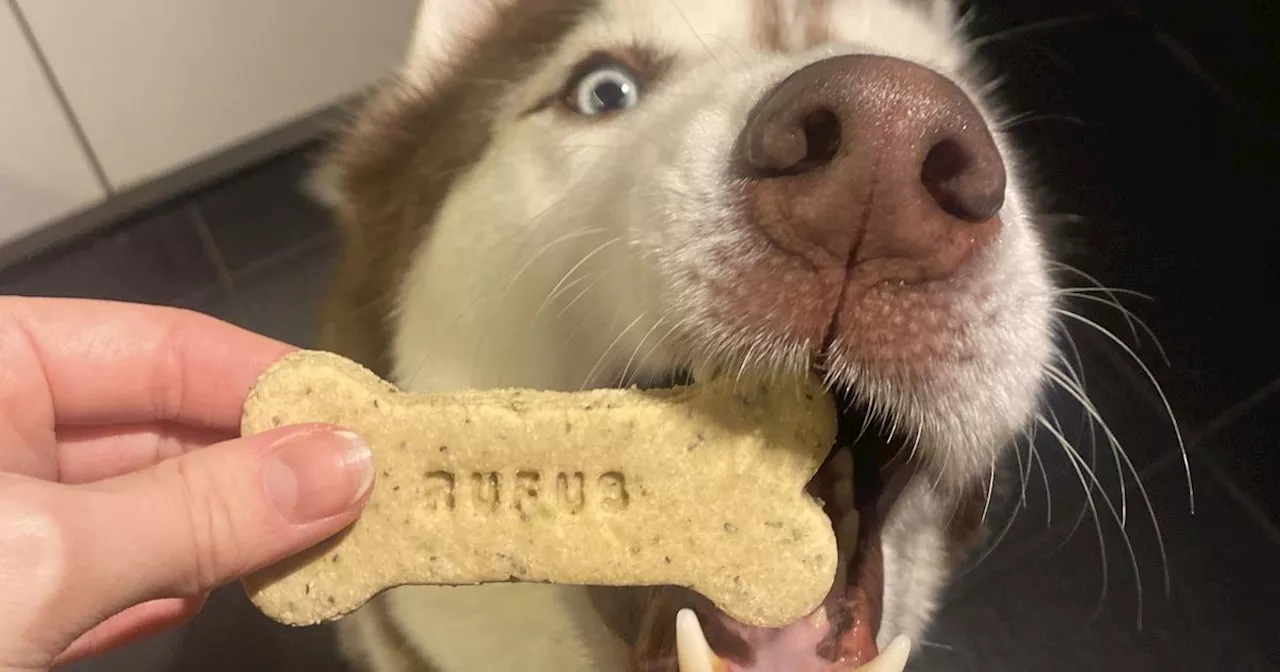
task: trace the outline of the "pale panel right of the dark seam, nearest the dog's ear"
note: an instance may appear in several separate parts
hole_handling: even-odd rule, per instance
[[[416,0],[18,0],[114,188],[332,105],[403,56]]]

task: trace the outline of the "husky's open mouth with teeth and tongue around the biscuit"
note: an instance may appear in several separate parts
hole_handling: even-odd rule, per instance
[[[879,652],[876,640],[884,599],[881,529],[913,472],[906,433],[882,426],[849,398],[837,396],[837,403],[836,445],[808,486],[823,502],[840,549],[823,604],[787,627],[760,628],[735,622],[686,589],[657,589],[640,625],[635,669],[901,672],[909,644],[895,641]]]

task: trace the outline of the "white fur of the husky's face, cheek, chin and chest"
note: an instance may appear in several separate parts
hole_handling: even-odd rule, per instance
[[[429,92],[509,1],[428,0],[407,59],[410,81]],[[805,3],[792,4],[800,13]],[[404,278],[396,383],[413,390],[579,389],[662,374],[699,356],[795,365],[788,353],[801,344],[749,340],[708,310],[717,297],[707,280],[732,271],[709,260],[750,264],[762,253],[742,234],[724,178],[760,95],[822,58],[872,52],[951,77],[995,120],[950,3],[831,4],[838,44],[765,55],[753,46],[748,1],[604,0],[508,100],[476,110],[492,115],[493,141],[454,184]],[[586,54],[631,44],[677,56],[641,106],[605,123],[520,114],[559,88]],[[1032,415],[1052,356],[1044,252],[1011,147],[996,137],[1010,166],[1005,229],[961,306],[986,324],[969,334],[979,357],[940,371],[925,389],[851,365],[837,371],[838,383],[919,434],[932,476],[908,488],[883,532],[881,645],[927,626],[950,570],[942,535],[955,494],[986,483]],[[676,329],[692,334],[701,351],[673,352],[664,337]],[[593,618],[580,589],[415,588],[385,599],[412,645],[444,672],[623,668],[623,646]],[[356,658],[392,669],[366,616],[342,628]]]

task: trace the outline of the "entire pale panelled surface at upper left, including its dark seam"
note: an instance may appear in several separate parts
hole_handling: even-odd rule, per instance
[[[402,61],[417,6],[0,1],[0,246],[361,92]]]

